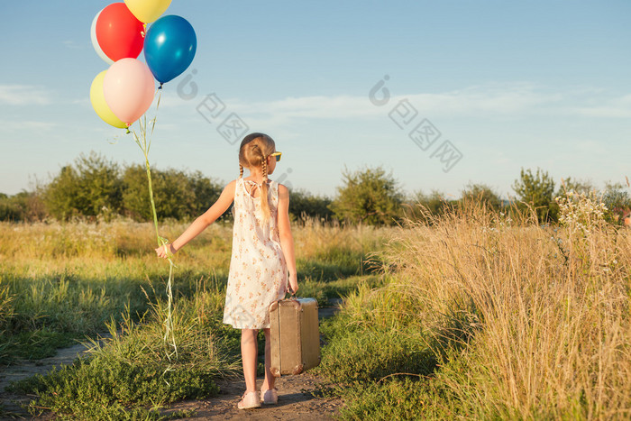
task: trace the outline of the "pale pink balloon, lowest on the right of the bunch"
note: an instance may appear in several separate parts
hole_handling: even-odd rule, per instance
[[[151,70],[138,59],[119,59],[105,73],[105,103],[123,123],[133,124],[144,114],[155,95]]]

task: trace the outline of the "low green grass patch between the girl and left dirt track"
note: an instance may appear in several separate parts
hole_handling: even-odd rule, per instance
[[[38,396],[30,406],[33,414],[45,407],[58,416],[81,419],[157,416],[155,409],[176,400],[215,396],[215,380],[234,375],[239,364],[235,332],[219,325],[216,312],[202,314],[217,301],[214,294],[203,289],[194,300],[176,305],[177,355],[162,339],[166,307],[159,302],[138,324],[129,315],[121,325],[111,323],[112,338],[95,343],[87,358],[14,383],[13,390]]]

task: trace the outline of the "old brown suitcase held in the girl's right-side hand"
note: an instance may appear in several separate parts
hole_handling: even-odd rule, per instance
[[[270,305],[271,373],[300,374],[320,363],[315,298],[288,298]]]

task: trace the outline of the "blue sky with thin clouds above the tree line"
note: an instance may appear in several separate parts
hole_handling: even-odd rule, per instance
[[[46,182],[89,151],[142,162],[88,98],[107,69],[90,25],[109,3],[3,5],[0,192]],[[167,14],[193,25],[197,55],[164,86],[158,168],[235,178],[237,146],[217,128],[236,114],[283,151],[277,179],[329,196],[344,169],[377,166],[409,193],[448,197],[470,182],[510,195],[521,168],[597,187],[631,175],[626,1],[173,0]],[[369,92],[386,75],[389,101],[374,105]],[[216,119],[198,112],[210,94],[225,105]],[[440,136],[414,142],[426,122]]]

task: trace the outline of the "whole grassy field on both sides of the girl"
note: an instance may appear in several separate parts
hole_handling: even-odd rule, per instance
[[[400,227],[295,226],[302,296],[344,297],[321,325],[348,419],[631,417],[631,239],[585,206],[562,226],[471,204]],[[572,216],[573,215],[573,216]],[[186,224],[164,224],[174,238]],[[31,411],[147,419],[239,375],[221,322],[231,227],[211,225],[168,264],[151,225],[0,224],[0,359],[113,339],[71,367],[14,385]],[[1,412],[0,412],[1,414]],[[187,416],[187,414],[178,414]]]

